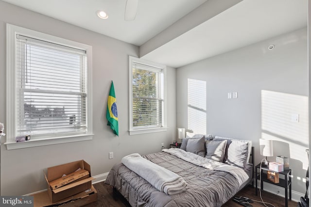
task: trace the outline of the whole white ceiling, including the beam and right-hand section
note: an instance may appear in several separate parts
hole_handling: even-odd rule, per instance
[[[308,16],[308,0],[138,0],[134,21],[124,20],[126,0],[3,1],[139,46],[141,58],[176,68],[307,27]]]

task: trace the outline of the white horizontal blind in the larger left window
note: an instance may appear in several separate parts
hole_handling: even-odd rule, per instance
[[[16,37],[16,135],[86,131],[86,51]]]

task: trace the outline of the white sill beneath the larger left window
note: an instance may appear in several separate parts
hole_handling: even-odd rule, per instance
[[[28,148],[34,146],[44,146],[44,145],[51,145],[51,144],[59,144],[59,143],[71,143],[71,142],[79,142],[79,141],[86,141],[92,140],[94,134],[83,134],[83,135],[75,135],[75,136],[66,136],[66,137],[55,137],[55,138],[47,138],[47,139],[36,139],[36,140],[29,140],[25,142],[6,142],[7,150],[11,149],[21,149],[21,148]]]

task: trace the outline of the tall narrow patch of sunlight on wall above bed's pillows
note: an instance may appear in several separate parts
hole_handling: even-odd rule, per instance
[[[206,134],[206,81],[188,79],[188,128]]]

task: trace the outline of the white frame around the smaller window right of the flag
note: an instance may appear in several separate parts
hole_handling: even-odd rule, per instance
[[[144,64],[147,66],[160,68],[163,71],[163,123],[162,127],[133,127],[133,63]],[[160,86],[159,86],[160,87]],[[157,64],[150,61],[142,60],[136,57],[129,56],[129,134],[143,134],[143,133],[153,133],[159,131],[167,130],[167,104],[166,104],[166,65]]]

